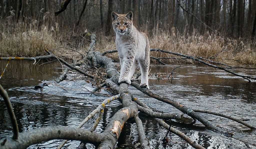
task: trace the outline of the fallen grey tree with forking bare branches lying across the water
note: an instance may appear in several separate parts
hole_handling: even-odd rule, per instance
[[[93,38],[93,36],[92,36]],[[94,37],[95,42],[96,42],[96,37]],[[91,47],[95,44],[91,43]],[[166,52],[163,51],[162,49],[157,49],[158,51]],[[155,49],[152,49],[152,51],[156,51]],[[53,55],[49,51],[47,51],[50,57],[58,59],[61,63],[67,65],[73,70],[76,70],[80,72],[81,74],[84,74],[84,72],[78,68],[76,68],[73,65],[68,64],[66,61],[62,60],[61,58]],[[169,54],[172,54],[171,52],[166,52]],[[94,51],[94,49],[91,51],[91,48],[88,51],[88,55],[95,57],[95,60],[97,60],[97,63],[100,64],[102,67],[106,69],[107,72],[107,78],[105,82],[103,82],[101,85],[99,85],[99,88],[104,87],[105,85],[113,90],[114,93],[120,94],[120,101],[123,105],[123,108],[118,110],[113,117],[110,119],[110,122],[108,123],[107,127],[102,133],[97,133],[94,132],[95,128],[97,127],[99,120],[101,119],[101,115],[97,118],[96,122],[94,123],[94,126],[92,127],[91,130],[84,130],[80,129],[86,123],[90,118],[92,118],[95,114],[100,113],[102,114],[103,109],[106,104],[111,102],[111,100],[115,100],[119,97],[119,95],[113,96],[111,98],[107,98],[106,100],[103,101],[102,104],[100,104],[95,110],[92,111],[80,124],[79,128],[70,128],[70,127],[65,127],[65,126],[48,126],[48,127],[43,127],[43,128],[38,128],[34,129],[31,131],[26,131],[22,132],[19,134],[19,137],[7,137],[6,139],[3,139],[0,141],[1,143],[1,148],[26,148],[29,145],[39,143],[41,141],[47,141],[51,139],[67,139],[67,140],[79,140],[85,143],[91,143],[95,145],[97,148],[114,148],[120,133],[122,132],[124,124],[127,122],[128,119],[134,118],[137,128],[138,128],[138,134],[141,142],[141,147],[142,148],[150,148],[149,143],[146,139],[145,131],[143,129],[142,122],[140,118],[138,117],[138,110],[143,111],[147,115],[154,117],[154,119],[159,123],[159,125],[163,126],[165,129],[170,130],[174,134],[178,135],[180,138],[188,142],[192,147],[194,148],[200,148],[204,149],[201,145],[197,144],[195,141],[191,140],[188,136],[186,136],[184,133],[180,132],[179,130],[167,125],[162,119],[178,119],[178,120],[183,120],[183,114],[180,113],[159,113],[159,112],[154,112],[150,107],[148,107],[145,103],[141,102],[137,98],[133,97],[132,94],[128,90],[128,85],[125,83],[122,83],[119,85],[118,84],[118,79],[120,74],[115,68],[115,64],[112,62],[112,59],[103,56],[100,52]],[[178,56],[182,56],[182,54],[178,54]],[[195,58],[192,56],[186,56],[183,55],[183,57],[186,57],[188,59],[193,59],[193,60],[199,60],[202,61],[200,58]],[[34,58],[32,58],[35,60]],[[90,58],[92,61],[92,58]],[[205,62],[206,63],[206,62]],[[91,63],[94,65],[93,63]],[[209,64],[209,63],[207,63]],[[209,64],[212,65],[212,64]],[[213,65],[215,66],[215,65]],[[91,67],[92,69],[94,67]],[[98,70],[98,69],[97,69]],[[222,69],[223,70],[223,69]],[[66,69],[65,69],[66,71]],[[68,68],[67,68],[68,71]],[[65,74],[63,75],[65,76]],[[63,77],[62,76],[62,77]],[[103,77],[101,77],[103,78]],[[212,112],[212,111],[203,111],[203,110],[193,110],[190,107],[184,106],[180,103],[178,103],[175,100],[169,99],[167,97],[164,97],[162,95],[158,95],[150,90],[147,90],[145,88],[140,88],[138,83],[132,82],[132,86],[134,86],[136,89],[140,90],[141,92],[145,93],[148,96],[151,96],[159,101],[165,102],[167,104],[170,104],[174,106],[175,108],[179,109],[183,113],[189,115],[193,119],[197,119],[200,121],[203,125],[205,125],[208,129],[210,130],[215,130],[218,132],[221,132],[225,135],[231,136],[232,133],[229,132],[224,132],[220,128],[212,125],[207,119],[202,117],[200,114],[197,112],[203,112],[203,113],[209,113],[209,114],[215,114],[215,115],[220,115],[219,113]],[[96,88],[98,89],[98,88]],[[2,92],[2,90],[0,90]],[[2,95],[2,94],[1,94]],[[8,105],[8,104],[7,104]],[[9,109],[12,108],[11,105],[9,104]],[[197,112],[196,112],[197,111]],[[241,119],[234,119],[231,116],[228,115],[220,115],[226,118],[229,118],[231,120],[238,121],[242,123],[243,125],[254,129],[254,126],[251,126],[247,124],[246,122],[243,122]],[[12,119],[15,119],[15,117],[10,114],[10,117]],[[15,124],[16,125],[16,124]],[[17,129],[14,127],[14,129]],[[18,133],[18,132],[17,132]],[[18,134],[16,134],[18,136]],[[17,138],[17,139],[15,139]],[[65,144],[61,143],[63,146]]]

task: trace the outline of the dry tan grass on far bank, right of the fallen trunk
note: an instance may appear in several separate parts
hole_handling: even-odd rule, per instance
[[[104,40],[103,40],[104,39]],[[114,37],[103,38],[98,41],[97,49],[101,52],[110,51],[115,48]],[[206,34],[200,35],[193,32],[192,35],[179,33],[175,28],[171,32],[154,31],[154,35],[149,36],[151,48],[161,48],[167,51],[182,53],[185,55],[211,57],[218,54],[221,50],[225,50],[218,54],[218,58],[228,58],[244,61],[248,65],[256,65],[256,48],[251,46],[250,41],[230,40],[225,41],[218,35]],[[117,54],[109,54],[109,57],[118,60]],[[154,57],[176,57],[160,52],[151,52]],[[162,59],[165,63],[193,63],[191,60],[173,60]],[[226,64],[241,64],[233,60],[219,60]]]

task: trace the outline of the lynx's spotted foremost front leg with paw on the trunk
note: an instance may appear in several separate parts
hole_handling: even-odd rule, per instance
[[[134,63],[134,56],[127,57],[123,59],[121,66],[121,73],[118,83],[128,83],[131,84],[130,72]]]

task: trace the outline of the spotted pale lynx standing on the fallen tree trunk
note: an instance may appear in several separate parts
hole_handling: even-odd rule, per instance
[[[141,69],[142,88],[149,89],[148,68],[150,64],[150,46],[145,33],[137,31],[133,26],[133,13],[130,11],[126,15],[112,12],[113,29],[116,33],[115,45],[121,63],[119,83],[131,84],[136,63]]]

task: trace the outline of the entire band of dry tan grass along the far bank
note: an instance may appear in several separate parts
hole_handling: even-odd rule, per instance
[[[59,56],[78,54],[68,48],[86,54],[84,50],[89,47],[88,41],[72,31],[55,27],[41,26],[37,22],[32,23],[2,23],[0,25],[0,56],[39,56],[44,55],[44,49],[49,49]],[[225,41],[218,35],[200,35],[196,31],[192,34],[179,33],[175,28],[170,32],[162,30],[144,32],[149,35],[151,48],[162,48],[168,51],[185,55],[211,57],[221,52],[218,58],[230,58],[244,61],[249,65],[256,65],[256,49],[246,40]],[[97,33],[96,49],[104,52],[116,49],[115,36],[104,36],[103,31]],[[68,48],[66,48],[68,47]],[[254,48],[253,48],[254,47]],[[108,54],[112,59],[118,60],[118,54]],[[175,57],[160,52],[151,52],[154,57]],[[162,59],[165,63],[193,63],[191,60]],[[227,64],[238,64],[232,60],[219,60]],[[240,63],[241,64],[241,63]]]

